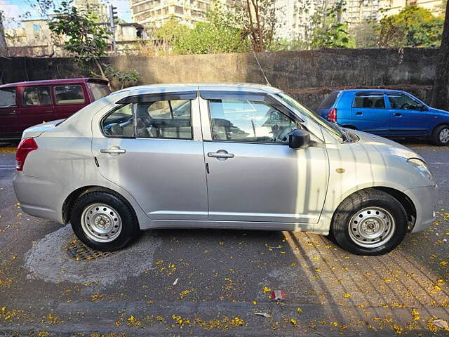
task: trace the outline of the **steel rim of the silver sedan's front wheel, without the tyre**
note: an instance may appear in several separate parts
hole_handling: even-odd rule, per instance
[[[376,248],[389,242],[396,229],[391,213],[381,207],[357,211],[349,221],[349,237],[358,246]]]

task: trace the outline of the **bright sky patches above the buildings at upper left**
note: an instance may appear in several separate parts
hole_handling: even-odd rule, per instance
[[[15,28],[20,25],[19,15],[31,12],[32,18],[39,18],[39,13],[33,12],[29,6],[33,0],[0,0],[0,11],[4,12],[4,24],[6,28]],[[105,0],[103,0],[106,2]],[[126,22],[131,21],[129,0],[109,0],[117,8],[119,18]]]

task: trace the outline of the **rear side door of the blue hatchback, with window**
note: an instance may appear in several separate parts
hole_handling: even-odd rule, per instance
[[[385,108],[382,92],[360,91],[352,102],[352,120],[357,130],[388,136],[390,128],[389,111]]]

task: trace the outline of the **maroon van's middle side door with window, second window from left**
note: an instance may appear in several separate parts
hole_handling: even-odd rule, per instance
[[[50,86],[24,86],[20,96],[19,125],[22,131],[29,126],[57,119]]]

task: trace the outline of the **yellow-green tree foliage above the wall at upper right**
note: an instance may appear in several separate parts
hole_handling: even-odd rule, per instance
[[[406,6],[380,21],[379,46],[434,47],[441,43],[443,18],[420,6]]]

